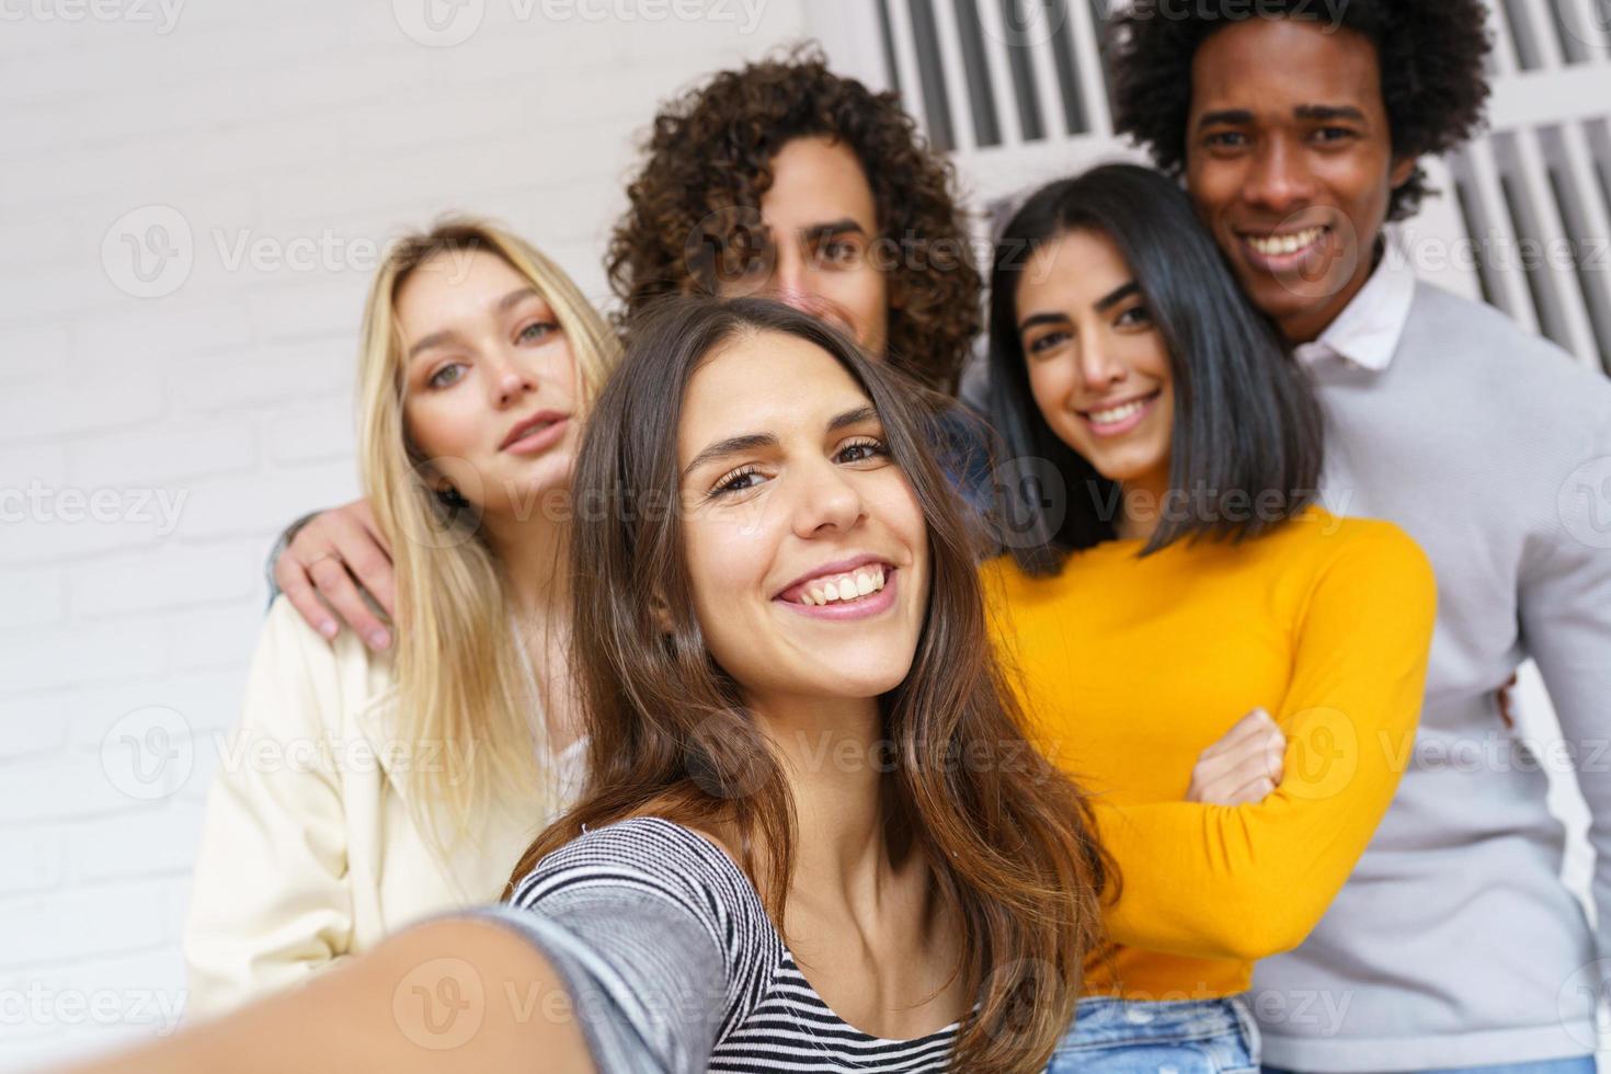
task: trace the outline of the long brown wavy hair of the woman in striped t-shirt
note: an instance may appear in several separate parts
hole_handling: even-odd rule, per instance
[[[1081,791],[1025,742],[986,633],[971,535],[926,446],[921,390],[788,306],[670,299],[635,328],[599,396],[577,461],[586,512],[570,551],[586,787],[520,858],[511,890],[583,828],[652,815],[736,832],[739,861],[781,927],[796,839],[789,784],[741,688],[710,655],[678,512],[665,509],[680,502],[688,382],[709,354],[752,333],[797,337],[849,370],[921,506],[928,609],[910,673],[881,697],[886,831],[925,855],[963,923],[957,973],[979,1006],[959,1034],[955,1069],[1041,1069],[1073,1018],[1113,866]]]

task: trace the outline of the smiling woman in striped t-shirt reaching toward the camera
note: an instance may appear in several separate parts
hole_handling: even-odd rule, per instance
[[[1113,878],[1020,729],[928,411],[772,301],[632,338],[577,464],[586,789],[507,903],[98,1069],[1046,1068]]]

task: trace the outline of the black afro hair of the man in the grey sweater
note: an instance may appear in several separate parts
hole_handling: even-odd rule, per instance
[[[1113,126],[1145,145],[1160,169],[1186,167],[1192,58],[1215,31],[1249,18],[1318,19],[1315,0],[1142,0],[1108,24]],[[1340,24],[1376,45],[1394,156],[1447,153],[1482,124],[1490,40],[1482,0],[1340,0]],[[1432,193],[1426,171],[1394,190],[1389,221],[1416,214]]]

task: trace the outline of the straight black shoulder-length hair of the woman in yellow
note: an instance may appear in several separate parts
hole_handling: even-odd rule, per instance
[[[1181,538],[1240,541],[1308,506],[1319,480],[1319,404],[1274,327],[1242,293],[1179,185],[1136,164],[1102,164],[1036,190],[996,243],[991,267],[991,419],[1005,448],[1004,541],[1031,575],[1116,536],[1120,488],[1063,443],[1034,403],[1018,333],[1018,280],[1047,242],[1078,230],[1118,246],[1163,337],[1174,378],[1170,494],[1141,549]],[[1050,464],[1049,475],[1037,461]],[[1060,478],[1063,494],[1039,488]]]

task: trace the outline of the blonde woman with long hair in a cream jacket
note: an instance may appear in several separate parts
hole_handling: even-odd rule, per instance
[[[454,221],[390,251],[364,312],[359,464],[396,565],[393,644],[327,641],[284,596],[269,610],[208,799],[192,1014],[499,898],[569,797],[570,470],[617,356],[514,235]]]

